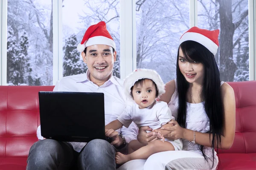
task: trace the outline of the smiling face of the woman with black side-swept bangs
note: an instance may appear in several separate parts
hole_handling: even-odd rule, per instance
[[[200,62],[188,62],[186,61],[184,54],[179,49],[179,68],[180,72],[189,83],[198,82],[203,83],[204,79],[204,65]]]

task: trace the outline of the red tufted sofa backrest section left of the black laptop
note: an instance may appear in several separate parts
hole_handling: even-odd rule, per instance
[[[0,86],[0,157],[27,157],[38,141],[38,92],[54,86]]]

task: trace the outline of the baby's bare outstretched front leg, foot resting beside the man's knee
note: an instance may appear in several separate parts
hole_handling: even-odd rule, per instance
[[[148,157],[153,155],[154,153],[169,150],[175,150],[174,146],[170,142],[155,140],[128,155],[117,152],[115,157],[116,164],[124,164],[125,162],[134,159],[148,159]]]

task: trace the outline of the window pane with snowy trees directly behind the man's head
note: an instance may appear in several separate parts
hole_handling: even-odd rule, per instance
[[[63,76],[86,72],[87,66],[76,46],[90,25],[105,21],[116,43],[117,57],[113,75],[120,77],[119,11],[119,0],[76,0],[76,3],[74,0],[63,1]]]

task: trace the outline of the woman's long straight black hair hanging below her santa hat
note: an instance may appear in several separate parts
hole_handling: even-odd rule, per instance
[[[210,122],[209,138],[212,133],[212,157],[214,159],[214,148],[221,144],[221,135],[223,135],[224,126],[224,106],[221,99],[221,81],[218,65],[214,55],[198,42],[185,41],[180,44],[184,58],[187,62],[200,62],[204,65],[204,80],[201,92],[201,99],[204,101],[204,109]],[[181,127],[186,125],[186,94],[189,88],[189,82],[186,81],[179,68],[179,51],[177,55],[177,90],[179,94],[179,107],[177,122]],[[217,140],[217,146],[215,145]],[[204,158],[204,146],[199,145]],[[213,163],[212,163],[213,166]]]

